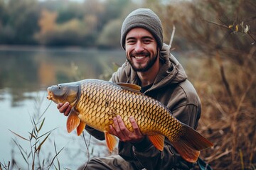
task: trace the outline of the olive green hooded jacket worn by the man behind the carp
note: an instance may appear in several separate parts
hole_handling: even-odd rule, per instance
[[[161,50],[161,59],[164,63],[161,66],[154,84],[144,92],[169,108],[171,113],[182,123],[196,129],[201,115],[201,102],[198,94],[186,73],[170,54],[168,45],[164,44]],[[114,83],[124,82],[140,84],[137,72],[134,72],[129,62],[124,62],[117,72],[114,72],[110,81]],[[92,135],[92,130],[88,130]],[[98,139],[104,139],[95,133]],[[146,137],[139,144],[119,142],[119,155],[129,162],[133,162],[138,169],[191,169],[193,164],[184,161],[171,146],[169,140],[165,140],[164,150],[159,152]]]

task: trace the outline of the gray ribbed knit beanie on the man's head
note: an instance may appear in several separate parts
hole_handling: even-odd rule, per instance
[[[160,50],[163,46],[163,28],[159,17],[149,8],[138,8],[127,16],[122,23],[121,28],[121,46],[125,50],[125,38],[132,28],[145,28],[156,39]]]

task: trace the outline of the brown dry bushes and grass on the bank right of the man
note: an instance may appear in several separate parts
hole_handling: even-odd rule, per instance
[[[176,26],[174,51],[186,51],[183,63],[203,104],[198,130],[215,144],[201,157],[213,169],[255,169],[255,1],[150,7],[161,13],[167,38]]]

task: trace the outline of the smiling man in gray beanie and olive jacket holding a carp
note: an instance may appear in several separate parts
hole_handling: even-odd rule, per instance
[[[176,58],[170,54],[169,46],[163,43],[161,21],[156,13],[139,8],[124,19],[121,30],[121,45],[127,61],[110,81],[142,86],[142,93],[164,103],[181,122],[196,129],[201,115],[201,102],[193,85]],[[69,103],[60,103],[60,113],[68,115]],[[125,127],[122,118],[114,118],[110,133],[119,138],[118,155],[92,158],[86,169],[191,169],[194,164],[181,158],[169,140],[165,140],[160,152],[142,135],[134,118],[130,118],[133,132]],[[104,134],[90,127],[87,132],[99,140]],[[83,169],[85,165],[80,168]]]

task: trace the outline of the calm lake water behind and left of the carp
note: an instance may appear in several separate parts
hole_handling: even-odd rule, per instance
[[[61,169],[76,169],[87,161],[88,154],[90,157],[109,154],[105,142],[90,139],[87,133],[85,139],[75,132],[68,134],[65,116],[58,112],[55,103],[46,99],[46,87],[78,79],[108,79],[116,69],[112,63],[122,64],[124,59],[123,50],[0,48],[1,164],[15,160],[17,165],[13,169],[28,169],[14,141],[27,153],[31,152],[31,145],[13,132],[28,139],[33,130],[31,119],[38,120],[45,110],[43,118],[46,120],[40,135],[56,129],[42,145],[40,157],[36,159],[41,164],[43,159],[51,162],[55,149],[59,152],[63,147],[58,154]],[[87,149],[85,142],[88,145],[89,140]],[[31,164],[31,158],[29,162]],[[54,164],[58,167],[57,159]]]

